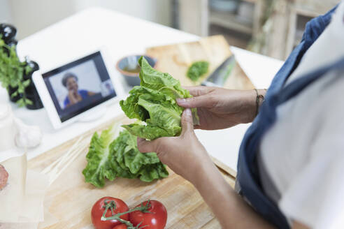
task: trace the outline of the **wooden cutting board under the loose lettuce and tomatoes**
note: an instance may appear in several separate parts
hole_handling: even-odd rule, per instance
[[[94,131],[102,130],[115,121],[125,124],[129,119],[117,118],[84,133],[83,136],[90,138]],[[43,170],[66,153],[76,139],[33,158],[29,161],[29,169]],[[85,152],[49,187],[44,206],[51,214],[49,218],[54,218],[55,222],[40,223],[38,228],[93,228],[91,208],[94,202],[103,196],[121,198],[129,207],[148,199],[159,200],[168,211],[166,228],[220,228],[220,224],[194,186],[170,169],[169,177],[150,183],[141,182],[139,179],[117,178],[113,182],[107,182],[103,189],[85,183],[81,172],[87,163],[87,148],[88,145],[85,145]],[[234,185],[233,177],[224,177]],[[47,223],[50,225],[47,226]]]

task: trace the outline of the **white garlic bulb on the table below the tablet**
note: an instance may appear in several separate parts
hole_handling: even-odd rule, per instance
[[[15,145],[20,148],[37,147],[42,141],[42,131],[38,126],[29,126],[18,118],[15,118],[17,134],[15,135]]]

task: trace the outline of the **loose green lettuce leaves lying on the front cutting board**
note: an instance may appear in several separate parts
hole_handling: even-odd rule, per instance
[[[138,151],[136,136],[126,130],[118,132],[119,126],[111,126],[100,136],[94,133],[83,170],[85,182],[100,188],[106,178],[110,181],[115,177],[139,178],[152,182],[169,175],[157,154]]]

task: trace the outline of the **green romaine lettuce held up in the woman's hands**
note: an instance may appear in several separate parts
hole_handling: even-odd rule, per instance
[[[145,121],[145,125],[130,124],[123,127],[132,135],[149,140],[180,135],[180,118],[184,108],[175,99],[192,96],[180,86],[179,80],[152,68],[144,57],[138,60],[138,64],[141,67],[141,84],[131,89],[129,97],[120,101],[120,105],[127,117]],[[194,124],[199,124],[196,109],[192,109],[192,113]]]

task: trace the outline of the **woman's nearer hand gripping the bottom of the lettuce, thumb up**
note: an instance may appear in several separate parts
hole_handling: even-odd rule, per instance
[[[156,152],[162,163],[194,184],[198,179],[197,171],[208,165],[213,166],[213,161],[194,133],[192,113],[189,108],[182,113],[181,122],[180,136],[157,138],[151,141],[138,138],[138,150],[143,153]]]

